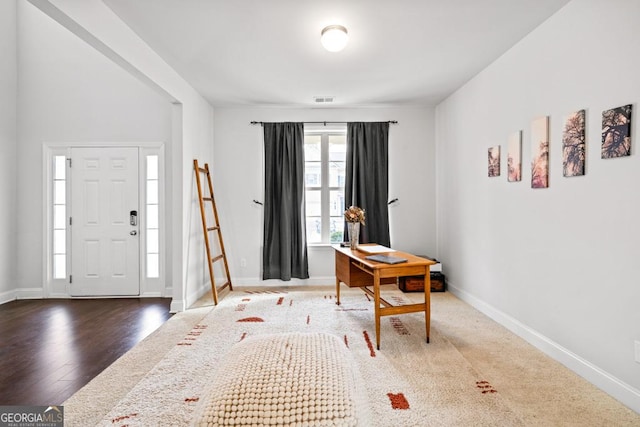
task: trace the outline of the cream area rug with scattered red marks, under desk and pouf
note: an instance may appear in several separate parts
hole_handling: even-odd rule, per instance
[[[434,295],[434,301],[438,297]],[[395,288],[385,290],[385,298],[395,304],[411,302]],[[149,346],[145,340],[132,355],[125,355],[113,369],[108,368],[65,402],[65,425],[193,425],[209,397],[210,385],[222,374],[220,367],[228,365],[226,358],[233,354],[234,345],[250,337],[293,332],[334,335],[353,356],[363,384],[360,398],[373,420],[358,425],[536,425],[527,419],[523,408],[501,393],[501,386],[494,384],[490,375],[479,372],[467,360],[464,343],[454,345],[442,332],[440,322],[432,324],[431,342],[427,344],[422,313],[383,317],[381,348],[377,350],[370,298],[359,289],[343,287],[341,302],[336,305],[332,287],[281,292],[235,290],[213,309],[192,311],[188,328],[184,320],[183,327],[174,326],[170,335],[161,328],[158,336],[164,334],[164,339],[168,336],[171,340],[163,354],[154,354],[153,347],[151,353],[145,353],[144,347]],[[178,316],[176,320],[181,319]],[[145,368],[150,360],[152,368]],[[142,372],[144,375],[139,375]],[[130,375],[132,378],[127,378]],[[123,385],[119,385],[121,382]],[[108,407],[101,409],[97,403],[90,410],[83,406],[91,406],[92,401]]]

